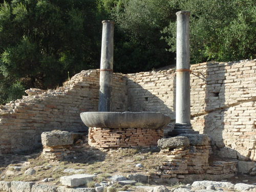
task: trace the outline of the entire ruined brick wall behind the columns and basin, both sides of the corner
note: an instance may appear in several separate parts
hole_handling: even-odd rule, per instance
[[[256,60],[207,62],[191,66],[191,123],[209,135],[215,152],[228,158],[256,160]],[[114,74],[112,111],[152,111],[175,123],[175,70]],[[29,96],[2,107],[2,153],[28,150],[40,133],[80,131],[79,114],[97,111],[99,71],[82,71],[57,90],[27,91]],[[38,92],[38,93],[37,93]]]

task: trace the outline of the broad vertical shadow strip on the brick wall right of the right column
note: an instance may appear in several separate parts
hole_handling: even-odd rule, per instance
[[[230,104],[226,101],[226,86],[230,86],[226,79],[226,67],[232,63],[208,62],[205,79],[205,112],[203,133],[211,137],[214,144],[214,154],[223,159],[248,160],[248,157],[234,150],[234,146],[227,139],[236,142],[239,136],[230,128],[228,116],[232,113]],[[227,125],[227,126],[226,126]]]

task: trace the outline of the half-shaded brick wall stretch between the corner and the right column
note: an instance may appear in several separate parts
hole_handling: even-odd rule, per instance
[[[127,78],[127,111],[157,112],[170,116],[172,120],[164,129],[168,132],[175,124],[175,88],[172,86],[175,73],[165,75],[163,80],[158,80],[156,76],[152,73],[140,82]]]

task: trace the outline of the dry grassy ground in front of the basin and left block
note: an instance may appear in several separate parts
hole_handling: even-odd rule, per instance
[[[108,181],[108,178],[113,175],[127,176],[127,174],[136,173],[148,175],[156,172],[160,162],[163,161],[158,152],[145,151],[140,148],[113,150],[104,153],[99,150],[89,150],[86,147],[76,149],[76,153],[59,162],[45,159],[40,153],[30,156],[5,155],[4,159],[5,162],[0,162],[0,181],[39,182],[45,178],[53,178],[52,184],[59,184],[61,176],[74,174],[64,173],[63,170],[67,168],[84,169],[84,173],[97,174],[95,182],[101,182],[103,180]],[[136,167],[138,163],[141,163],[143,168]],[[15,170],[14,166],[23,166],[24,168]],[[35,169],[36,174],[25,175],[28,168]],[[7,176],[7,170],[13,175]],[[93,183],[89,185],[91,186]]]

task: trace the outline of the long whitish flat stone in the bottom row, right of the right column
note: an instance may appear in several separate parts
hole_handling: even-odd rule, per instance
[[[195,188],[206,188],[209,185],[214,185],[215,188],[222,187],[227,189],[233,189],[234,184],[230,182],[218,182],[218,181],[195,181],[192,186]]]

